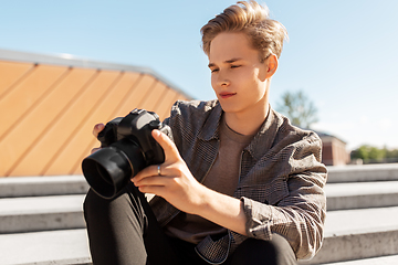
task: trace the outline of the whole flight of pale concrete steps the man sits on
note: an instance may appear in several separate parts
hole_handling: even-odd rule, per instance
[[[387,261],[387,255],[394,258],[398,254],[396,166],[329,169],[334,181],[325,188],[328,213],[324,245],[315,258],[301,264],[367,264],[368,259]],[[357,172],[364,167],[374,173],[362,179]],[[352,176],[349,181],[347,176]],[[360,182],[349,183],[354,179]],[[0,264],[90,263],[82,213],[87,189],[82,176],[0,178]]]

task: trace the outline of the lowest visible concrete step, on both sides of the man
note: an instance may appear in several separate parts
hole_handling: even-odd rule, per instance
[[[397,255],[397,219],[398,206],[329,212],[322,250],[313,259],[301,264],[366,261]],[[2,234],[0,250],[0,264],[90,263],[84,229]]]

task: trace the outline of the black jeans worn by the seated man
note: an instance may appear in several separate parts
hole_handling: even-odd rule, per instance
[[[167,236],[145,199],[133,183],[113,200],[92,190],[84,202],[93,264],[101,265],[205,265],[195,244]],[[287,241],[249,239],[226,261],[227,265],[296,264]]]

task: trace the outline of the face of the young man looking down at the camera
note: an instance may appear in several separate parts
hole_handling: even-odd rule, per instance
[[[223,32],[210,45],[211,86],[228,113],[250,115],[268,107],[268,65],[244,33]]]

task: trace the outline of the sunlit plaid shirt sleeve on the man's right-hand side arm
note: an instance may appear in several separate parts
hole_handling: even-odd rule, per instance
[[[315,134],[293,146],[286,165],[291,170],[279,177],[287,188],[285,195],[266,203],[245,197],[241,201],[248,220],[248,236],[270,240],[277,233],[289,241],[297,258],[306,259],[316,254],[323,242],[326,218],[323,187],[327,170],[321,163],[322,142]]]

